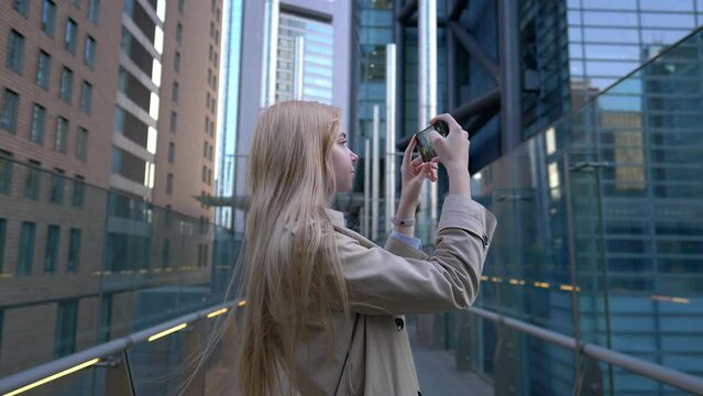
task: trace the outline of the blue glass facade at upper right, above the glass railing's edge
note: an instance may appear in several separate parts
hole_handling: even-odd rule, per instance
[[[683,1],[520,2],[523,136],[579,108],[703,23],[703,4]]]

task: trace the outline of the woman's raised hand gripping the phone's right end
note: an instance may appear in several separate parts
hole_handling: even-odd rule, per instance
[[[449,176],[449,194],[471,196],[469,187],[469,133],[448,113],[439,114],[430,120],[447,122],[449,134],[447,138],[431,130],[429,138],[432,141],[435,153],[439,162],[447,168]]]

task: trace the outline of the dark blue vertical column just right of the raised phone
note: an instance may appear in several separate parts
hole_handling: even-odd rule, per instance
[[[498,0],[501,56],[501,152],[506,154],[520,143],[520,63],[517,1]]]

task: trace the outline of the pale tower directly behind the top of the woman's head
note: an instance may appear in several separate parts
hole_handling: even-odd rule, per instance
[[[231,29],[224,81],[228,101],[238,101],[222,125],[218,195],[244,196],[249,145],[263,108],[305,99],[337,106],[350,130],[351,3],[327,0],[267,0],[230,3]],[[240,16],[241,15],[241,16]],[[239,21],[241,18],[241,28]],[[267,28],[268,26],[268,28]],[[241,43],[241,44],[239,44]],[[239,57],[239,58],[238,58]],[[237,65],[239,63],[239,65]],[[271,77],[271,78],[268,78]],[[234,82],[238,79],[239,82]],[[238,95],[238,99],[232,99]],[[232,109],[228,102],[228,109]],[[285,136],[282,136],[285,139]],[[218,209],[218,223],[241,231],[243,212]]]

